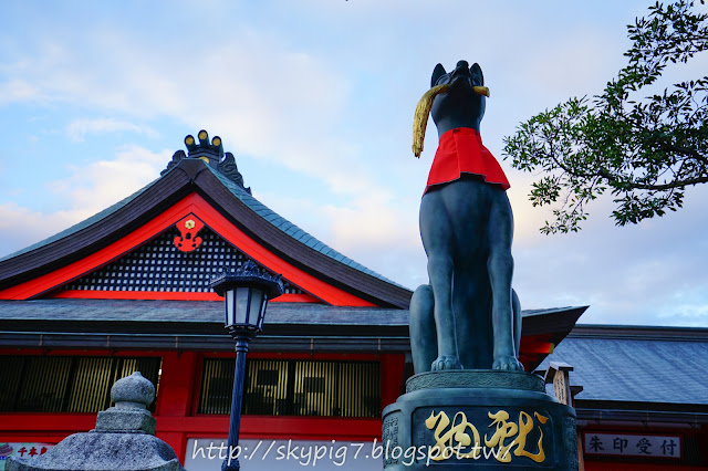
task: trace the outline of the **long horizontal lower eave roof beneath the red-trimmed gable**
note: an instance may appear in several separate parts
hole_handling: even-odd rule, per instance
[[[560,343],[585,307],[522,311],[523,338]],[[408,310],[271,302],[257,349],[410,350]],[[46,299],[0,301],[0,344],[17,348],[232,350],[223,302]],[[535,352],[538,353],[538,352]],[[529,357],[538,365],[544,355]]]

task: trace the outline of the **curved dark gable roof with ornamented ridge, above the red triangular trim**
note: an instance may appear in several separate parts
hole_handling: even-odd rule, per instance
[[[260,247],[315,279],[374,305],[408,306],[410,290],[332,249],[256,199],[250,188],[243,186],[233,156],[229,153],[225,156],[220,139],[216,146],[196,145],[192,139],[187,147],[189,156],[183,150],[175,153],[160,178],[124,200],[0,259],[0,291],[83,260],[178,201],[197,195]],[[56,287],[48,285],[29,299]]]

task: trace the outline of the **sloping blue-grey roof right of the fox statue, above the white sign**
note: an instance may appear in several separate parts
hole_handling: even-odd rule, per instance
[[[587,334],[587,331],[592,331]],[[708,405],[708,329],[576,327],[549,362],[575,369],[583,401]]]

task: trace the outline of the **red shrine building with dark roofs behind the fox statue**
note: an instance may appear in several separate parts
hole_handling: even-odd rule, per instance
[[[152,184],[0,259],[0,470],[7,450],[40,453],[91,430],[113,383],[135,370],[157,388],[156,436],[188,470],[220,469],[204,447],[228,435],[235,344],[210,280],[247,260],[281,274],[285,291],[250,346],[242,442],[381,440],[382,409],[413,375],[412,291],[259,202],[219,137],[201,130],[185,144]],[[563,387],[585,469],[707,469],[708,329],[575,326],[585,308],[523,311],[520,352],[551,394],[555,371],[574,367]],[[695,365],[671,366],[669,352]],[[654,379],[629,360],[654,362]],[[671,377],[684,388],[675,400],[642,383]],[[353,454],[320,469],[381,469]]]

